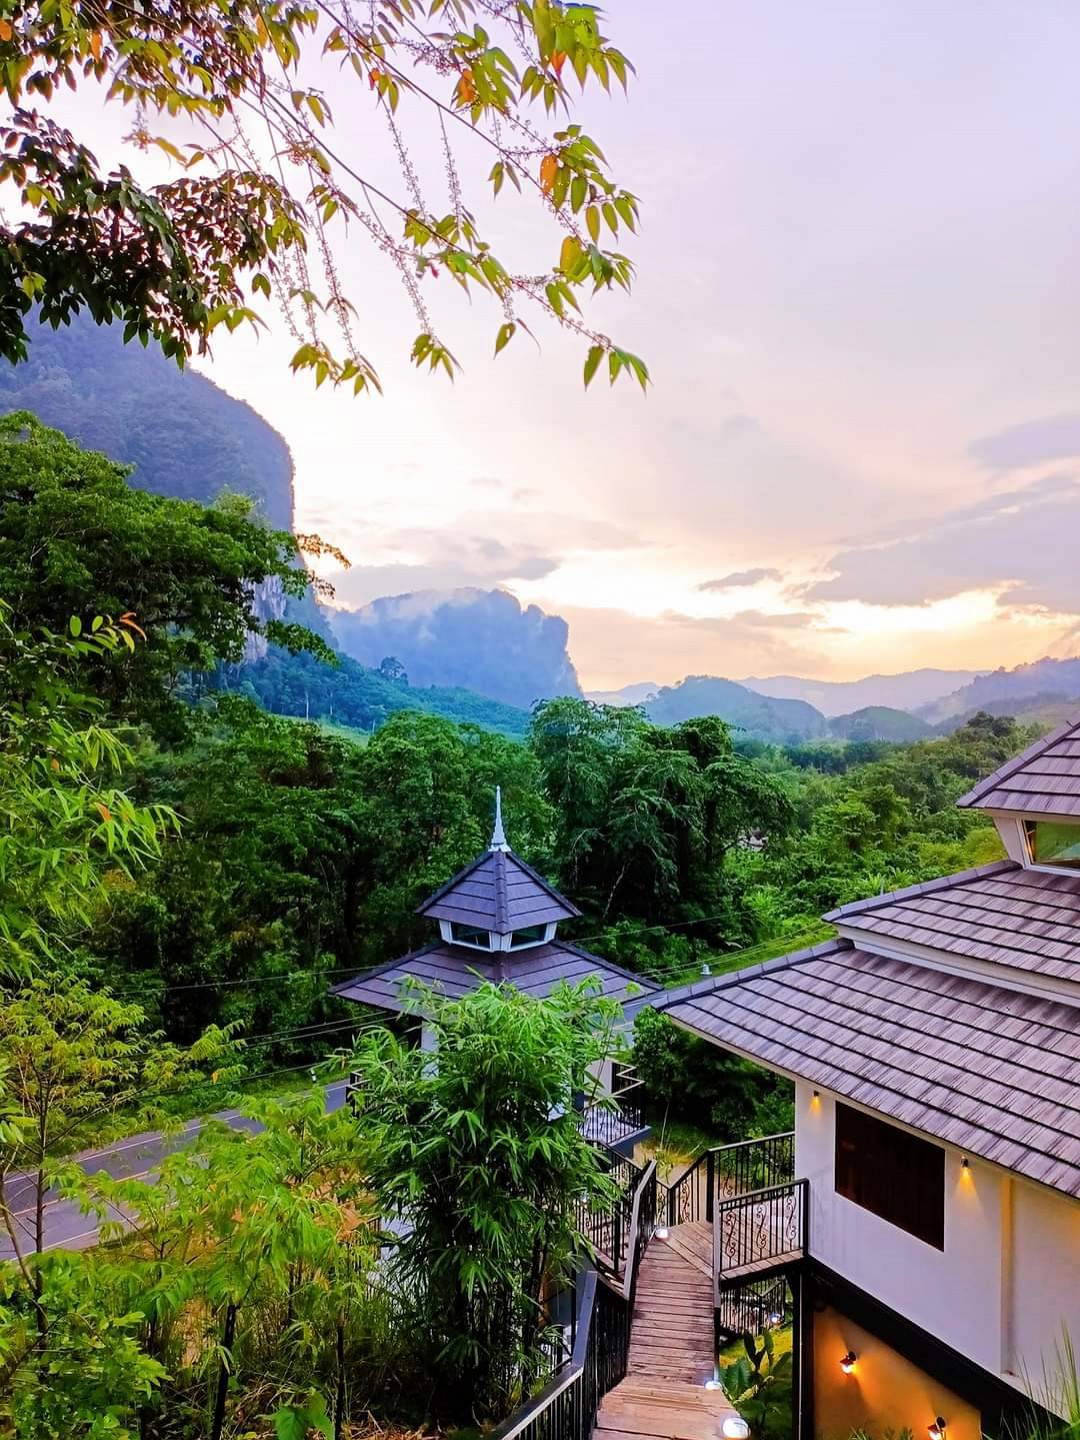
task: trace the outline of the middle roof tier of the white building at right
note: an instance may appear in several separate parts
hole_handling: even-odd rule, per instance
[[[1009,860],[841,906],[825,916],[861,936],[1008,965],[1080,984],[1080,874]]]

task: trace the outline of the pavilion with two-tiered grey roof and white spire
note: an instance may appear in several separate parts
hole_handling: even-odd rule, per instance
[[[448,999],[459,999],[485,981],[505,981],[539,999],[546,999],[563,981],[576,985],[583,979],[595,979],[606,998],[618,1001],[660,994],[641,975],[559,937],[560,923],[577,919],[580,910],[510,848],[498,792],[490,847],[416,913],[438,924],[438,939],[336,985],[333,994],[392,1015],[415,1008],[410,999],[415,984]],[[429,1044],[426,1034],[422,1043]],[[619,1099],[621,1113],[598,1112],[593,1123],[602,1135],[596,1138],[621,1149],[631,1146],[644,1130],[634,1103],[636,1084],[626,1067],[611,1063],[598,1080],[603,1093]]]

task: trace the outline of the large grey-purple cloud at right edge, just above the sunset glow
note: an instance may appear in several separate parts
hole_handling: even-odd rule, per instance
[[[1080,484],[1048,475],[945,514],[883,546],[835,554],[804,600],[926,606],[969,590],[998,590],[1001,606],[1080,613]]]

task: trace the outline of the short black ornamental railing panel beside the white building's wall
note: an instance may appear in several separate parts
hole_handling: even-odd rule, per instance
[[[720,1292],[806,1254],[809,1187],[805,1179],[768,1185],[717,1202],[713,1270]]]

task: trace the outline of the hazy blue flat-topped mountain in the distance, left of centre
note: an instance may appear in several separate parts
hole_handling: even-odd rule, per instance
[[[465,685],[521,708],[582,693],[566,621],[537,605],[521,609],[507,590],[416,590],[330,619],[346,655],[361,665],[393,657],[413,685]]]

